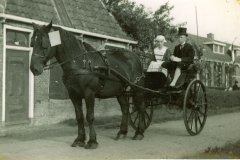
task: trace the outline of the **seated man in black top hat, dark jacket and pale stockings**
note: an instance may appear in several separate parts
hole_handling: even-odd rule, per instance
[[[172,82],[169,84],[169,91],[178,91],[179,88],[176,82],[181,75],[181,70],[186,70],[190,64],[193,64],[195,51],[191,44],[186,43],[188,34],[187,28],[179,28],[178,38],[179,45],[175,46],[173,55],[170,57],[170,62],[164,62],[162,67],[169,70],[175,70]]]

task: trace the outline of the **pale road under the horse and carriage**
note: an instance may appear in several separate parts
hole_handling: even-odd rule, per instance
[[[24,133],[13,130],[7,137],[0,138],[0,160],[181,158],[239,140],[239,123],[239,112],[208,117],[203,131],[197,136],[187,133],[183,120],[153,124],[141,141],[131,140],[134,135],[131,127],[128,137],[119,141],[113,140],[118,128],[97,128],[99,146],[96,150],[70,147],[76,138],[76,127],[59,125],[44,130],[25,129]]]

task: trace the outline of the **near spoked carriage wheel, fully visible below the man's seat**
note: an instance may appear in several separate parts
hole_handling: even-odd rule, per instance
[[[188,133],[200,133],[207,119],[207,95],[203,83],[194,79],[187,87],[183,102],[183,118]]]

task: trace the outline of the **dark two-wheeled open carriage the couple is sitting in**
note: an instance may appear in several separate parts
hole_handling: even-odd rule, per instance
[[[144,124],[147,129],[153,118],[155,106],[165,104],[178,106],[183,110],[183,119],[188,133],[192,136],[200,133],[207,119],[207,96],[203,83],[196,78],[194,64],[187,70],[182,71],[177,81],[179,91],[168,92],[166,86],[170,83],[174,72],[165,76],[162,72],[145,72],[145,86],[142,90],[145,94],[145,118]],[[133,104],[131,87],[126,90],[130,104],[130,125],[137,129],[139,112]]]

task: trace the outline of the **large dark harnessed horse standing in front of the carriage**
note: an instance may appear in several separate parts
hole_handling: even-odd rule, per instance
[[[121,106],[122,122],[116,139],[124,138],[128,132],[128,109],[129,104],[125,89],[128,82],[134,82],[143,86],[144,79],[142,64],[136,53],[119,49],[109,51],[104,58],[100,52],[89,51],[93,47],[85,47],[72,33],[60,28],[53,27],[52,22],[47,26],[33,24],[34,34],[31,45],[33,54],[31,57],[31,71],[37,76],[42,74],[47,62],[55,57],[63,69],[63,82],[69,97],[75,107],[78,122],[78,136],[72,144],[73,147],[81,146],[95,149],[98,146],[96,132],[93,126],[95,98],[117,97]],[[48,33],[50,30],[59,31],[61,44],[51,47]],[[108,63],[107,63],[108,62]],[[97,66],[105,66],[99,69]],[[110,68],[110,69],[109,69]],[[116,71],[121,76],[112,74]],[[123,79],[127,80],[124,81]],[[143,93],[132,87],[135,106],[140,112],[138,129],[133,137],[134,140],[143,138],[144,132],[144,97]],[[86,135],[84,128],[84,115],[82,111],[82,99],[86,102],[86,120],[89,124],[89,141],[85,145]]]

